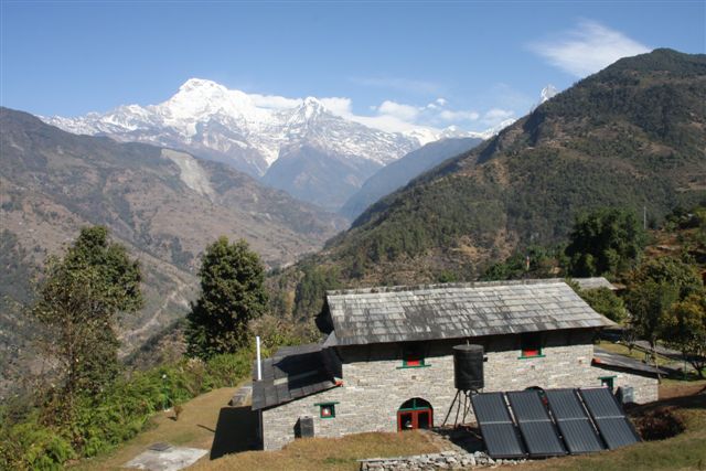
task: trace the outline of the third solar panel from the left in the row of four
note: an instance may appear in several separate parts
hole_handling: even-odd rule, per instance
[[[549,410],[571,454],[605,449],[574,389],[547,389]]]

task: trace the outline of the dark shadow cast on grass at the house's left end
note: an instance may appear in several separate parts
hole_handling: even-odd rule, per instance
[[[250,406],[223,407],[218,414],[211,459],[254,450],[257,446],[257,413]]]

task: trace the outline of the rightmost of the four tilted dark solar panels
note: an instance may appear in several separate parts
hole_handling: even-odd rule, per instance
[[[640,441],[632,424],[608,388],[579,389],[579,394],[609,449]]]

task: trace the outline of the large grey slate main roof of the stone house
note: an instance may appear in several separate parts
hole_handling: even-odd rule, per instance
[[[338,345],[611,327],[563,280],[329,291]]]

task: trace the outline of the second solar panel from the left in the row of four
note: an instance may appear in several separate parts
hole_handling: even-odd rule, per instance
[[[536,390],[507,393],[522,437],[531,457],[558,457],[566,448]]]

